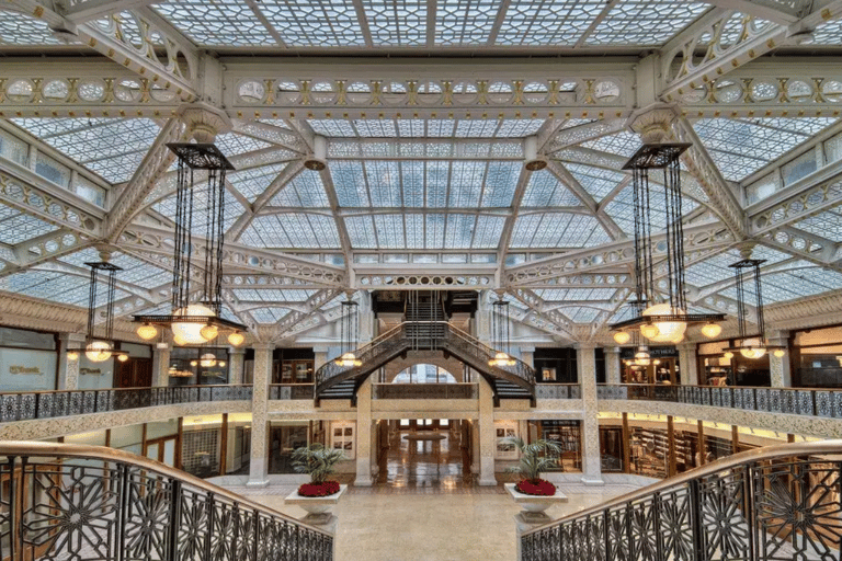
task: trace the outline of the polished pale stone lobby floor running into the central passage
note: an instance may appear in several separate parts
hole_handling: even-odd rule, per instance
[[[513,561],[520,508],[501,485],[476,485],[465,460],[458,442],[450,437],[394,439],[375,484],[352,486],[333,511],[339,518],[337,561]],[[300,518],[306,514],[301,508],[284,504],[294,489],[232,491]],[[569,502],[547,514],[558,518],[633,489],[565,484],[560,490]]]

